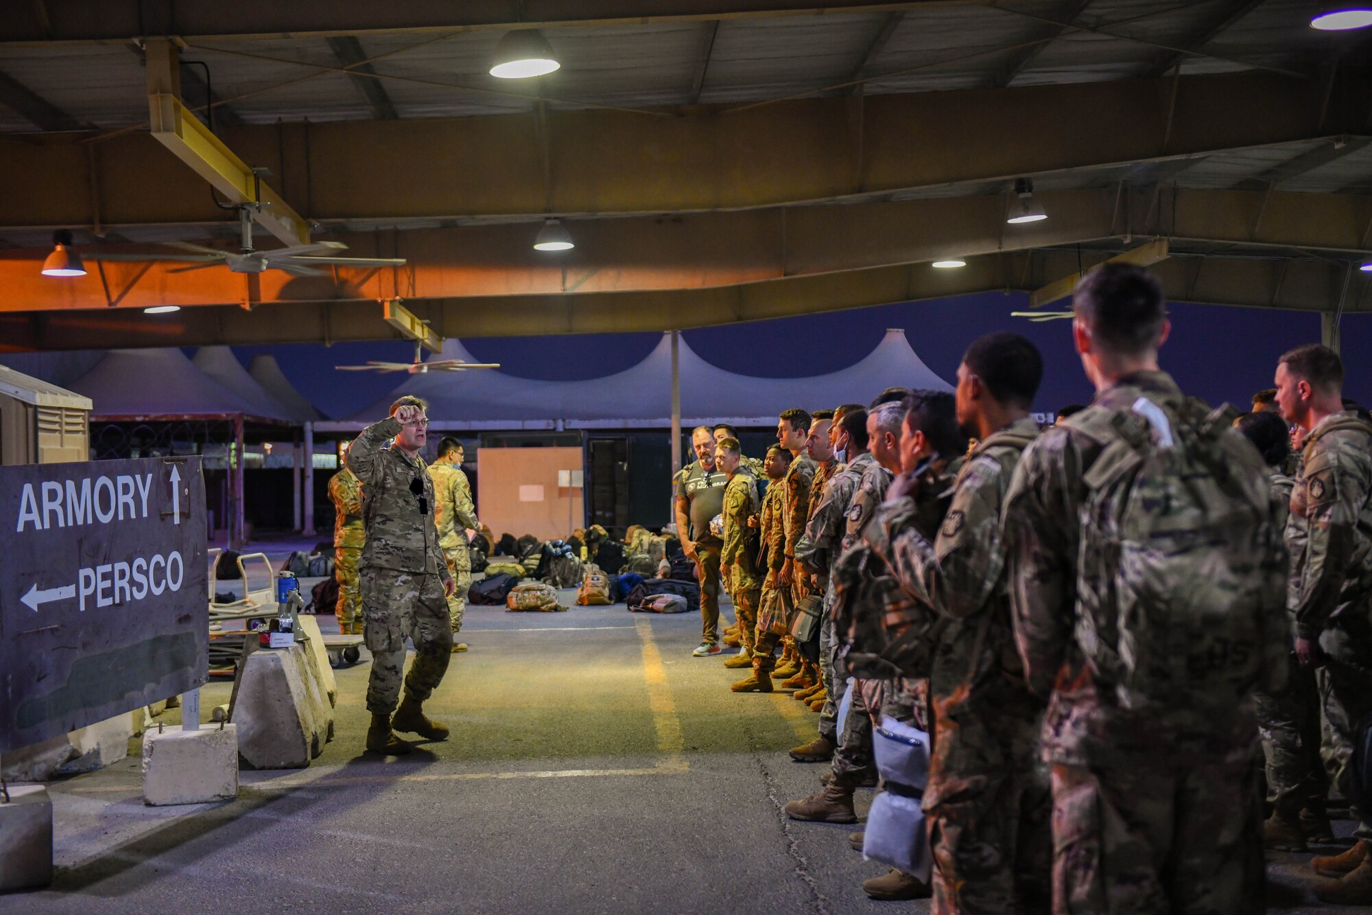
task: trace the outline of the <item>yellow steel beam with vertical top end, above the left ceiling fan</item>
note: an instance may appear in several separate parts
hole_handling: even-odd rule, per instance
[[[252,218],[272,235],[287,245],[309,245],[310,224],[181,104],[177,58],[170,40],[148,40],[148,120],[152,137],[230,203],[251,207]]]

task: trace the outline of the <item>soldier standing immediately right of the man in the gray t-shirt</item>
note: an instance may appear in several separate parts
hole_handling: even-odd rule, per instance
[[[761,574],[757,572],[757,514],[761,507],[757,499],[757,478],[742,464],[742,449],[737,438],[724,438],[715,445],[715,467],[729,475],[724,506],[719,512],[724,521],[719,577],[730,585],[742,639],[738,654],[724,661],[724,666],[746,668],[753,665],[757,606],[763,587]],[[771,688],[770,677],[767,688],[768,691]]]

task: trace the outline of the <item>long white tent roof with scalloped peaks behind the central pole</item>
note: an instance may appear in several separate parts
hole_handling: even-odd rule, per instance
[[[443,345],[442,359],[479,361],[456,339]],[[488,370],[416,374],[369,408],[320,429],[347,430],[376,422],[402,394],[427,400],[438,429],[668,426],[671,359],[671,335],[664,334],[643,361],[605,378],[550,382]],[[685,338],[679,342],[679,360],[685,426],[705,422],[764,426],[790,407],[866,404],[893,385],[951,390],[911,349],[900,328],[888,330],[881,343],[856,364],[809,378],[729,372],[697,356]]]

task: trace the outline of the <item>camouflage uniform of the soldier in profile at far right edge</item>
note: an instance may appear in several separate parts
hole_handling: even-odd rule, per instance
[[[1287,521],[1288,607],[1297,635],[1317,642],[1324,768],[1349,797],[1356,728],[1372,713],[1372,427],[1353,412],[1306,436]],[[1372,811],[1357,811],[1372,839]]]

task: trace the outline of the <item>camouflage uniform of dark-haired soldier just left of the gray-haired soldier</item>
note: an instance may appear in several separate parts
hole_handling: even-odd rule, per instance
[[[844,683],[847,675],[841,675],[834,664],[837,661],[838,646],[834,643],[834,587],[830,572],[838,562],[838,552],[844,541],[848,523],[848,506],[852,504],[858,484],[870,464],[875,463],[871,452],[863,452],[853,458],[851,464],[838,464],[829,477],[819,499],[814,501],[814,511],[805,525],[805,533],[796,541],[796,558],[815,569],[822,569],[820,581],[823,584],[825,613],[820,617],[819,629],[819,669],[825,684],[825,708],[819,712],[819,735],[838,743],[838,701],[842,690],[837,688]],[[815,474],[819,478],[819,474]]]

